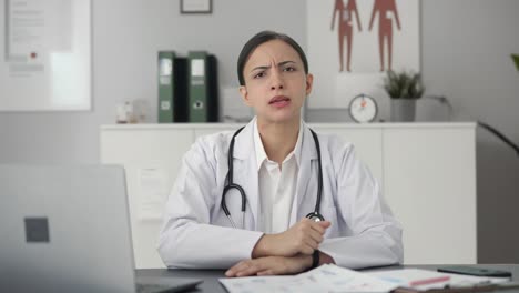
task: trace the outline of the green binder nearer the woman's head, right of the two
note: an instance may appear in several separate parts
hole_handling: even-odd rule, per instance
[[[189,121],[218,121],[217,64],[205,51],[189,52]]]

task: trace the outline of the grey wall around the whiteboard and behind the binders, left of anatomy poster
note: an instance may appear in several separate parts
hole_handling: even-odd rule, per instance
[[[301,3],[213,0],[212,14],[186,16],[179,0],[93,0],[93,111],[0,113],[0,162],[98,162],[99,125],[115,121],[118,102],[145,99],[156,121],[157,50],[208,50],[221,84],[236,85],[237,54],[254,33],[279,30],[306,42]]]

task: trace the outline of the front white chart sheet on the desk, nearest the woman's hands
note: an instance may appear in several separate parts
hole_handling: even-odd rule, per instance
[[[332,264],[298,275],[220,279],[220,283],[230,293],[389,292],[398,287],[395,282]]]

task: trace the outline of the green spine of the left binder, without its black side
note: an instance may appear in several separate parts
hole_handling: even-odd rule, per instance
[[[174,122],[175,79],[173,67],[175,52],[159,52],[159,123]]]

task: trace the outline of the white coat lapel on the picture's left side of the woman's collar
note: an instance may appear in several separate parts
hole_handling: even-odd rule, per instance
[[[257,163],[254,150],[254,133],[253,125],[256,120],[253,119],[243,130],[236,135],[234,142],[234,176],[235,183],[242,185],[245,190],[245,196],[247,199],[246,210],[253,215],[253,229],[257,231],[258,218],[258,174]],[[240,179],[240,181],[237,180]],[[245,212],[246,214],[246,212]]]

